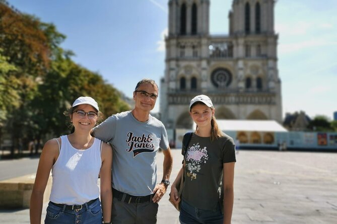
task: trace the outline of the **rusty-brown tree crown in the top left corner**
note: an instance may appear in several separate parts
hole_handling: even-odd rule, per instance
[[[50,48],[43,24],[30,15],[0,4],[0,48],[20,75],[43,75],[49,65]]]

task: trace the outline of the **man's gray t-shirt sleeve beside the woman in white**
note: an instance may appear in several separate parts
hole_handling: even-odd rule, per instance
[[[115,115],[110,116],[100,125],[93,129],[93,136],[103,142],[112,142],[116,134],[116,121]]]

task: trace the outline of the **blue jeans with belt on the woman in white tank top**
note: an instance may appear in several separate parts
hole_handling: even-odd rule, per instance
[[[58,207],[49,202],[46,218],[44,219],[45,224],[102,224],[102,222],[102,208],[99,199],[90,205],[85,203],[82,209],[78,211],[66,209],[65,206]]]

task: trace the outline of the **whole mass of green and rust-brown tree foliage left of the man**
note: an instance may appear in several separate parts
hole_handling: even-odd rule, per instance
[[[129,109],[100,74],[71,59],[64,39],[53,24],[0,2],[0,124],[14,143],[65,134],[63,111],[79,96],[95,98],[105,116]]]

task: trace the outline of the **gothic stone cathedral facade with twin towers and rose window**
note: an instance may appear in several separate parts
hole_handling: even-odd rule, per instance
[[[233,0],[229,35],[209,34],[210,0],[169,0],[161,120],[192,127],[189,101],[207,94],[217,119],[282,123],[275,0]]]

